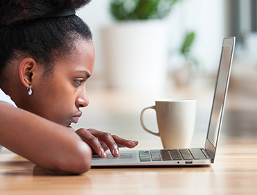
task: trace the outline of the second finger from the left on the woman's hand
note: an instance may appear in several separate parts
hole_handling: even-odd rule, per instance
[[[120,156],[120,151],[118,149],[118,145],[116,144],[114,138],[110,133],[106,133],[103,131],[97,131],[96,129],[88,129],[90,133],[92,133],[96,138],[100,141],[105,142],[107,147],[109,147],[109,151],[111,151],[113,156]]]

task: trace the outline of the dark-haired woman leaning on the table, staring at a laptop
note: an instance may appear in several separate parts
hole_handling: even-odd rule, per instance
[[[91,32],[74,11],[87,3],[0,2],[0,145],[58,174],[89,170],[92,152],[119,156],[138,144],[70,127],[89,104],[94,69]]]

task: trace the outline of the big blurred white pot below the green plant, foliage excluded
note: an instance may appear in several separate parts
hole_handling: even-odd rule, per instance
[[[124,22],[104,28],[107,85],[136,91],[163,90],[168,65],[166,29],[162,21]]]

